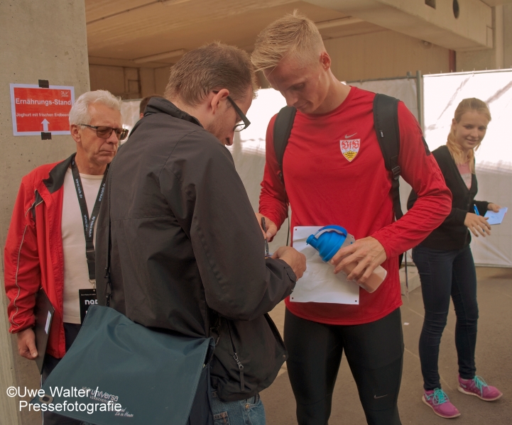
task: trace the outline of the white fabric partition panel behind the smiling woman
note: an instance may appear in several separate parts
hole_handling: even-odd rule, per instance
[[[512,70],[425,75],[425,138],[431,150],[444,145],[454,111],[462,99],[476,97],[489,104],[492,121],[476,151],[476,199],[512,206]],[[493,226],[492,235],[474,238],[476,264],[512,267],[512,217]]]

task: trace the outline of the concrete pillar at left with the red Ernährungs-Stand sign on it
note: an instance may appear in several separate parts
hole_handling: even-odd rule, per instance
[[[0,0],[0,245],[6,233],[21,177],[33,168],[67,158],[75,151],[71,136],[13,136],[9,83],[74,86],[75,97],[89,90],[85,4],[61,0]],[[36,364],[20,358],[16,338],[9,336],[2,255],[0,290],[0,422],[40,424],[40,414],[19,412],[18,398],[6,389],[39,387]],[[26,398],[25,398],[26,399]]]

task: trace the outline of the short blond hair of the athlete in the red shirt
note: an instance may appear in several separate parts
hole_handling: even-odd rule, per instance
[[[320,48],[324,43],[317,26],[295,9],[258,34],[251,61],[257,71],[276,67],[285,56],[307,63],[316,60]]]

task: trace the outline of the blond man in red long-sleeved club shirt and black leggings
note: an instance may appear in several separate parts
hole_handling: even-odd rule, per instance
[[[252,61],[297,109],[283,157],[285,187],[266,137],[266,165],[259,212],[276,234],[288,214],[291,227],[337,224],[357,239],[332,258],[333,271],[357,262],[349,280],[366,282],[378,265],[388,277],[359,305],[285,299],[288,375],[300,425],[325,425],[344,353],[371,425],[399,425],[403,336],[398,255],[422,241],[450,213],[450,191],[423,144],[417,121],[398,104],[403,178],[420,192],[418,203],[393,220],[391,176],[374,129],[374,93],[339,82],[315,23],[297,13],[265,28]],[[350,150],[349,150],[350,148]]]

